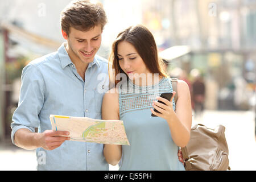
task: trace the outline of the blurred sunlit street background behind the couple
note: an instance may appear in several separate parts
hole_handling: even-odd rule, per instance
[[[24,66],[64,42],[59,19],[69,2],[0,2],[0,170],[36,169],[35,151],[11,143],[11,118]],[[193,124],[224,125],[231,169],[256,170],[256,0],[100,2],[108,24],[98,55],[108,59],[124,28],[146,26],[170,76],[189,85]]]

